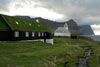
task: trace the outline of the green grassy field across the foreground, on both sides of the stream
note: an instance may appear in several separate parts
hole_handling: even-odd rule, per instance
[[[100,43],[54,38],[54,45],[42,42],[0,42],[0,67],[76,67],[84,46],[92,46],[90,67],[100,67]]]

